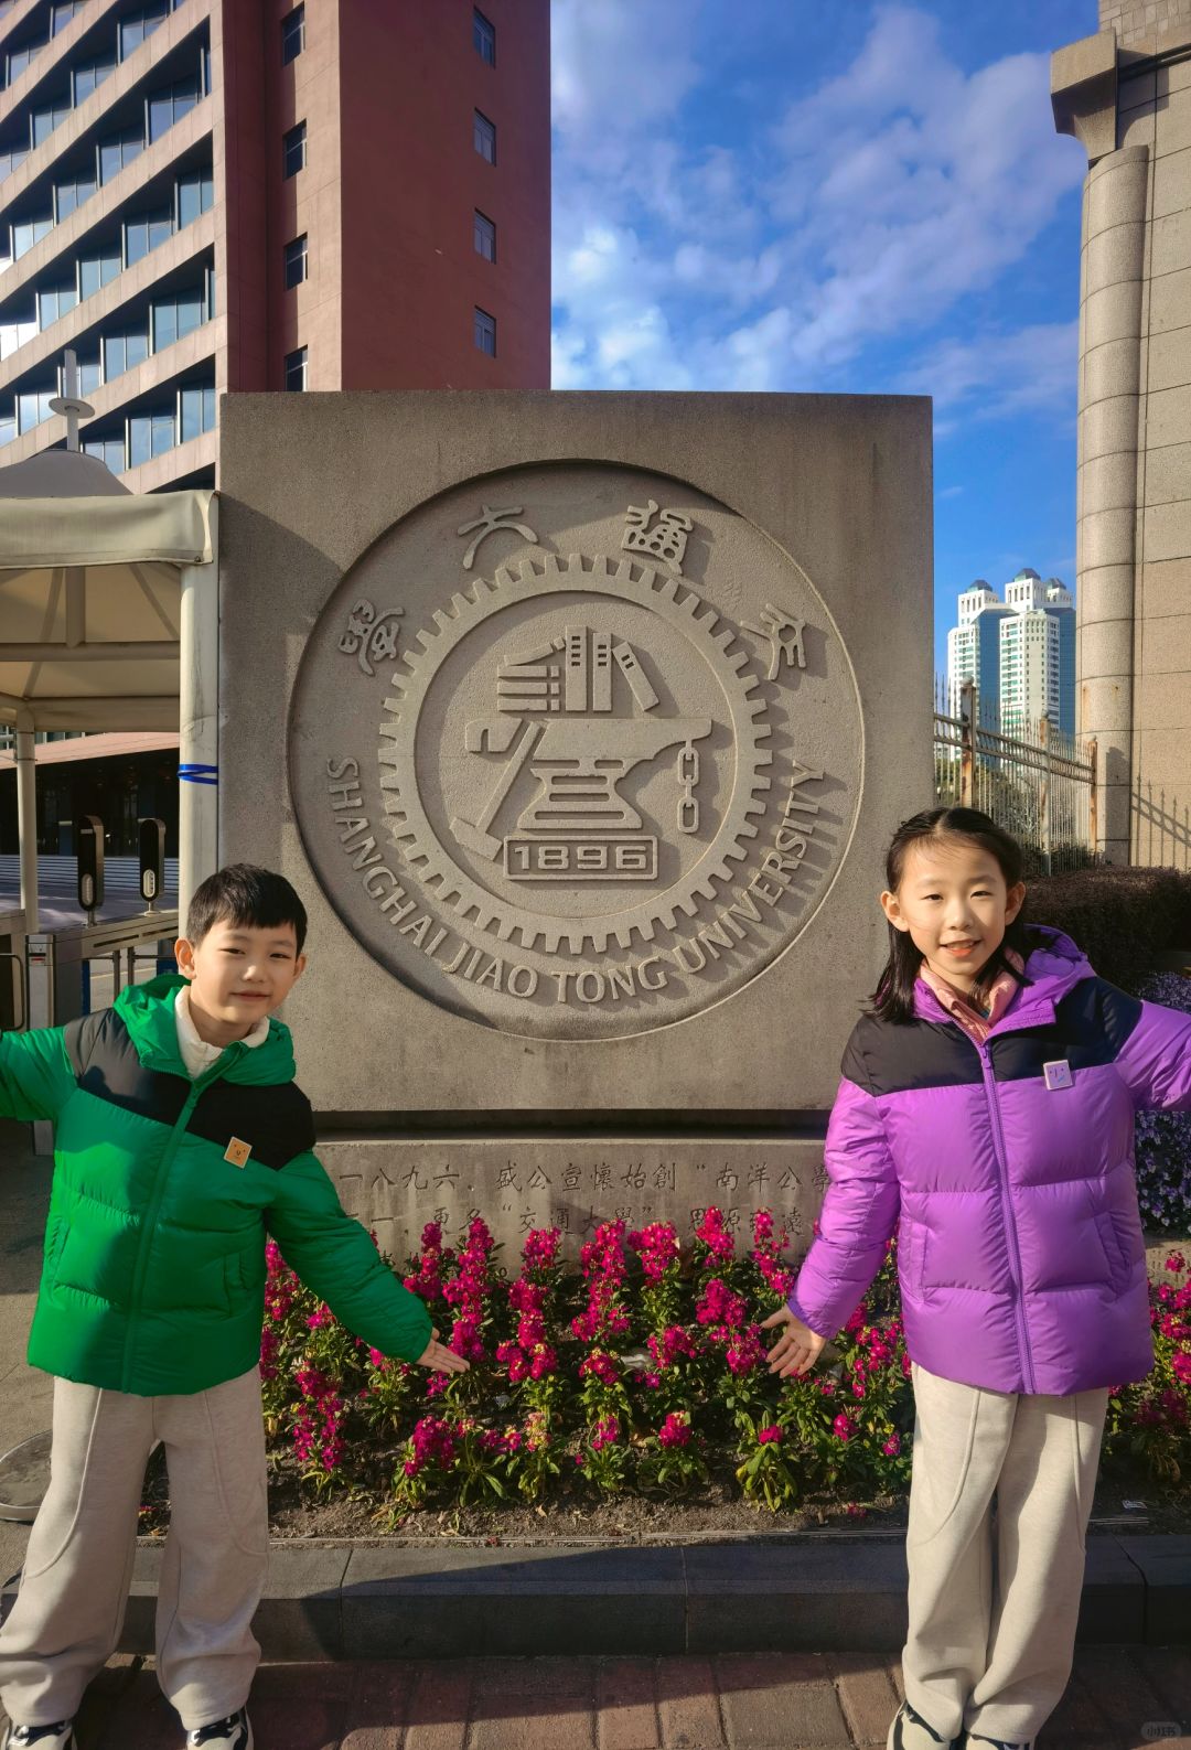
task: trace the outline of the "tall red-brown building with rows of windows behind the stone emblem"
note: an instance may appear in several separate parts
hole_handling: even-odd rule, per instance
[[[0,0],[0,466],[226,390],[549,387],[549,0]]]

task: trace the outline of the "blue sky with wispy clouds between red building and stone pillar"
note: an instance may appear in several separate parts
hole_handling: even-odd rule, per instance
[[[556,388],[930,394],[955,597],[1074,586],[1095,0],[553,0]]]

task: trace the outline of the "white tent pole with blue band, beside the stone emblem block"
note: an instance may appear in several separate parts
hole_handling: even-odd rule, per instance
[[[199,882],[219,868],[219,499],[212,564],[182,567],[178,749],[178,928]]]

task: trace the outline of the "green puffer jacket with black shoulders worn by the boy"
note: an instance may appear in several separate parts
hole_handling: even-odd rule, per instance
[[[182,978],[129,987],[65,1027],[0,1036],[0,1116],[51,1118],[54,1183],[28,1358],[138,1396],[257,1365],[264,1241],[374,1349],[416,1362],[430,1316],[381,1262],[311,1153],[289,1027],[229,1045],[196,1082]],[[243,1148],[252,1152],[243,1166]]]

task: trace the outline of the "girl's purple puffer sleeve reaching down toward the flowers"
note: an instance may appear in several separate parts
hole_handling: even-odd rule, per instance
[[[811,1332],[834,1337],[880,1270],[901,1208],[880,1108],[846,1076],[831,1111],[824,1166],[818,1234],[787,1306]]]

